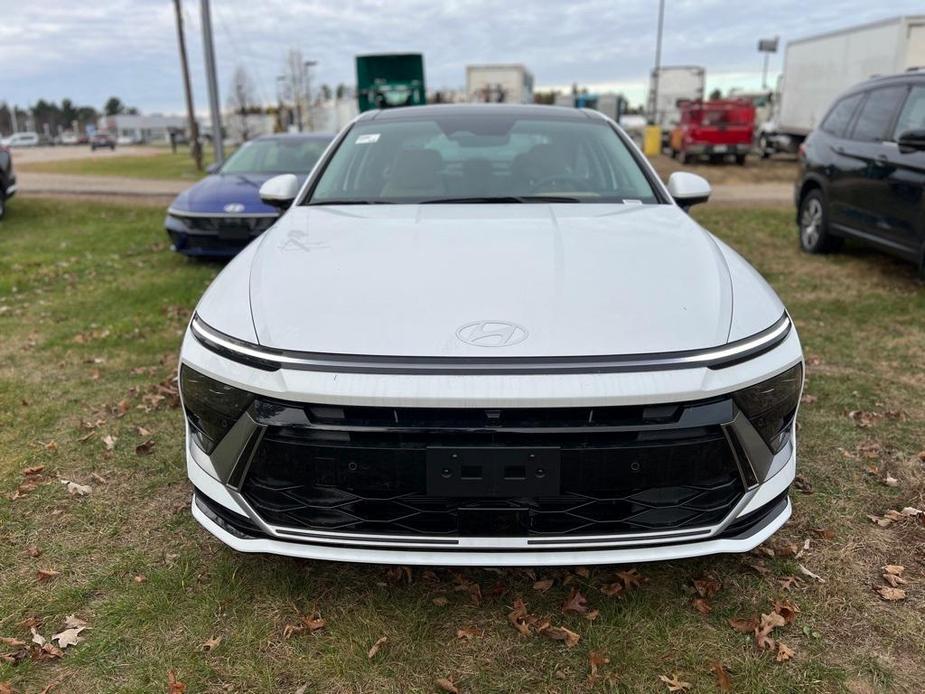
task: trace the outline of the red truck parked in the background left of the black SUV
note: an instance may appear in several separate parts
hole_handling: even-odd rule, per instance
[[[681,122],[671,133],[671,156],[682,164],[706,156],[712,162],[734,156],[744,164],[752,148],[755,106],[748,99],[684,101]]]

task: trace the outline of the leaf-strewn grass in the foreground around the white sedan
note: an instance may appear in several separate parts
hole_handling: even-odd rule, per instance
[[[630,567],[408,574],[226,549],[189,514],[168,380],[219,267],[170,253],[156,207],[15,200],[0,223],[0,691],[156,692],[174,677],[188,692],[433,692],[439,678],[463,692],[667,692],[659,676],[677,674],[705,692],[714,663],[742,692],[921,691],[925,526],[868,514],[925,507],[925,287],[862,249],[799,253],[785,210],[697,216],[793,313],[814,491],[794,492],[767,551],[637,565],[642,584],[608,597]],[[905,566],[904,600],[875,592],[887,564]],[[701,614],[692,581],[709,576],[722,587]],[[576,588],[596,619],[562,613]],[[518,598],[580,641],[521,636]],[[728,622],[780,600],[800,610],[773,632],[787,662]],[[30,643],[71,615],[88,628],[60,657]],[[287,629],[311,615],[324,627]],[[592,654],[609,663],[589,678]]]

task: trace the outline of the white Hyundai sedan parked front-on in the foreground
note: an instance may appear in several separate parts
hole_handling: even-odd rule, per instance
[[[613,121],[364,113],[183,340],[195,518],[244,552],[558,566],[747,552],[790,515],[800,341]]]

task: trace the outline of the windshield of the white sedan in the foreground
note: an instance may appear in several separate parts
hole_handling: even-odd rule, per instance
[[[308,204],[658,201],[606,121],[454,109],[357,123]]]

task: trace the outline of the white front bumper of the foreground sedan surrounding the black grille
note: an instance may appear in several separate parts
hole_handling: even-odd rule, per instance
[[[209,377],[256,393],[270,403],[277,403],[279,408],[271,413],[277,417],[276,422],[272,417],[266,418],[270,416],[266,410],[263,414],[252,412],[257,418],[256,425],[272,429],[279,426],[304,427],[300,412],[311,408],[300,407],[300,403],[323,403],[345,407],[479,410],[492,407],[635,407],[678,402],[697,405],[711,399],[722,399],[724,395],[733,391],[761,382],[793,366],[800,359],[798,338],[794,331],[790,331],[783,341],[770,351],[723,368],[593,374],[534,373],[517,376],[331,373],[295,368],[267,370],[233,361],[207,348],[188,333],[183,345],[181,363]],[[708,424],[741,429],[741,422],[737,421],[711,420]],[[746,426],[741,431],[747,434],[748,428],[749,426]],[[253,432],[253,429],[251,431]],[[236,435],[239,434],[240,432]],[[247,437],[250,435],[245,431],[245,437],[241,440],[248,440]],[[752,468],[757,467],[754,477],[745,479],[743,475],[742,486],[737,496],[733,499],[727,498],[723,503],[728,502],[728,505],[720,509],[719,516],[709,517],[703,523],[691,522],[682,524],[683,527],[661,529],[622,527],[620,532],[598,534],[579,532],[581,529],[577,528],[569,529],[552,540],[537,538],[531,534],[535,528],[531,528],[531,533],[518,536],[498,536],[497,533],[486,536],[471,532],[458,534],[452,532],[452,529],[447,530],[446,527],[438,527],[434,533],[421,531],[415,535],[393,532],[393,528],[377,533],[359,524],[351,526],[349,522],[340,527],[309,527],[310,524],[289,523],[286,518],[294,518],[292,513],[311,507],[312,504],[317,508],[320,503],[318,499],[306,498],[301,492],[301,496],[294,492],[290,495],[285,489],[287,485],[290,485],[290,491],[295,489],[295,485],[290,484],[291,479],[284,479],[281,472],[277,476],[279,479],[274,480],[273,475],[267,475],[264,470],[259,483],[264,485],[264,488],[276,485],[276,488],[283,489],[287,500],[286,508],[274,509],[272,503],[268,504],[259,495],[255,496],[253,489],[248,490],[244,484],[245,475],[250,474],[250,468],[247,472],[241,473],[242,477],[230,478],[227,469],[218,469],[222,464],[218,459],[213,460],[216,454],[213,453],[213,458],[207,456],[189,436],[189,431],[186,448],[189,477],[196,487],[199,499],[198,503],[194,502],[193,515],[216,537],[241,551],[402,564],[557,565],[652,561],[718,552],[742,552],[753,548],[780,527],[789,516],[786,490],[795,474],[794,436],[795,430],[791,431],[790,443],[776,456],[769,455],[767,460],[761,461],[757,466],[753,464]],[[267,440],[270,440],[269,436]],[[770,454],[770,451],[768,453]],[[412,451],[409,455],[413,454]],[[253,455],[249,458],[254,459]],[[412,458],[402,460],[411,461]],[[335,459],[334,462],[338,465],[346,464],[347,459]],[[418,460],[417,464],[420,462]],[[563,465],[564,462],[563,458]],[[250,464],[249,462],[248,465]],[[300,463],[297,462],[297,466],[298,464]],[[411,465],[409,462],[408,467]],[[400,467],[404,469],[404,464]],[[288,469],[293,469],[291,461]],[[331,505],[328,503],[330,497],[327,496],[327,492],[321,491],[323,494],[320,496],[325,497],[321,501],[327,504],[322,504],[326,512],[336,508],[338,512],[355,513],[356,507],[351,504],[370,501],[368,497],[356,498],[356,494],[350,492],[351,498],[345,498],[342,504],[338,502]],[[335,491],[342,493],[344,490]],[[582,490],[582,493],[585,492],[586,490]],[[218,509],[219,513],[210,512],[210,506],[213,511]],[[543,508],[537,508],[536,505],[532,508],[540,513],[548,512]],[[276,511],[280,511],[282,515],[276,514]],[[742,529],[743,523],[758,515],[761,516],[760,523]],[[338,522],[343,520],[340,518]],[[343,528],[347,526],[350,527],[344,532]],[[419,528],[414,530],[417,531]]]

